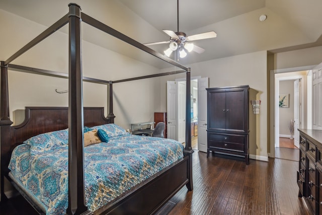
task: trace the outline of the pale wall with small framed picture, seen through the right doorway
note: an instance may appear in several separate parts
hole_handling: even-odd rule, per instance
[[[289,107],[279,108],[279,134],[280,137],[291,135],[289,123],[294,120],[294,80],[280,81],[280,94],[289,94]]]

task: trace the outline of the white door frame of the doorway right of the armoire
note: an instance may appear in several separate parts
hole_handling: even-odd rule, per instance
[[[276,81],[275,81],[275,74],[278,73],[290,73],[293,71],[303,71],[303,70],[311,70],[316,65],[307,65],[307,66],[298,66],[298,67],[291,67],[291,68],[283,68],[283,69],[273,69],[270,70],[270,153],[268,154],[268,157],[275,158],[275,140],[276,140],[276,99],[275,99],[275,91],[276,91]],[[306,84],[306,83],[305,83]],[[307,85],[309,86],[309,85]],[[306,91],[307,92],[307,91]],[[305,95],[305,101],[307,100],[307,95]],[[307,104],[302,105],[304,108],[307,106]],[[305,110],[304,110],[305,112]],[[306,118],[306,115],[305,115]],[[305,123],[302,123],[302,126],[307,126],[306,122],[309,121],[306,120]]]

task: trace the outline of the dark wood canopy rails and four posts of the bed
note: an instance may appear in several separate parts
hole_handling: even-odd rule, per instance
[[[165,75],[173,75],[178,73],[186,73],[186,146],[184,149],[184,155],[188,158],[187,170],[188,170],[188,183],[185,184],[188,190],[193,189],[192,183],[192,153],[191,148],[191,129],[190,129],[190,68],[181,65],[180,63],[172,60],[163,54],[160,54],[143,44],[129,38],[128,36],[110,28],[109,26],[93,19],[92,17],[81,12],[81,8],[76,4],[69,4],[69,13],[63,16],[60,20],[50,26],[47,30],[42,32],[39,36],[9,57],[6,61],[1,61],[1,103],[0,103],[0,131],[1,134],[10,132],[10,127],[13,122],[10,120],[9,114],[9,90],[8,90],[8,68],[28,71],[30,73],[37,73],[47,76],[55,76],[61,78],[68,78],[68,129],[69,129],[69,162],[68,162],[68,207],[67,214],[92,214],[88,210],[85,201],[85,181],[84,181],[84,139],[83,139],[83,127],[84,127],[84,106],[83,106],[83,81],[94,82],[99,84],[108,84],[110,88],[110,111],[108,118],[114,123],[113,114],[113,98],[112,85],[114,83],[120,83],[125,81],[133,81],[139,79],[153,78]],[[173,71],[169,73],[142,76],[131,79],[124,79],[118,81],[103,81],[98,79],[86,78],[82,74],[82,38],[81,38],[81,23],[85,22],[105,33],[108,33],[138,49],[141,49],[159,59],[168,62],[171,65],[181,68],[182,70]],[[10,64],[11,61],[19,57],[21,54],[35,46],[37,43],[47,38],[49,35],[63,27],[65,24],[69,24],[69,68],[68,75],[63,73],[57,73],[54,71],[36,69],[26,66],[19,66]],[[10,135],[0,135],[1,141],[1,197],[2,200],[6,198],[4,194],[4,175],[8,174],[9,159],[8,149],[3,147],[4,142],[9,141]],[[174,195],[174,194],[173,194]],[[168,198],[169,200],[169,198]],[[108,211],[108,210],[107,210]]]

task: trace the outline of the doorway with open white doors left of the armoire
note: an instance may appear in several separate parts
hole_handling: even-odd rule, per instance
[[[168,97],[168,123],[171,122],[171,130],[168,129],[168,138],[185,141],[186,125],[186,91],[185,79],[176,79],[175,82],[167,82]],[[184,87],[183,87],[184,86]],[[191,78],[191,134],[194,150],[207,152],[207,91],[208,78]],[[175,95],[176,94],[176,95]],[[172,117],[171,117],[172,116]],[[170,136],[169,136],[170,134]]]

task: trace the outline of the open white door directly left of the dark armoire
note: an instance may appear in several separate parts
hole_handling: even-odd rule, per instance
[[[207,91],[208,77],[198,79],[198,150],[207,152]]]

